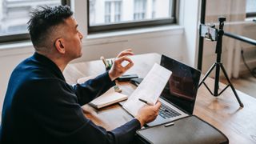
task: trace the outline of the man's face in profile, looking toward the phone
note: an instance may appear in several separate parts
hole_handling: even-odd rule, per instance
[[[65,20],[63,35],[65,40],[66,57],[70,60],[82,56],[82,33],[78,30],[78,23],[73,17]]]

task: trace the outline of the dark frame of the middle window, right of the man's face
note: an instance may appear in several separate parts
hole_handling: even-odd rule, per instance
[[[150,26],[164,26],[176,24],[178,18],[179,0],[173,0],[171,18],[158,18],[154,20],[142,20],[139,22],[117,22],[114,24],[90,26],[90,0],[87,0],[87,32],[88,34],[97,34],[99,32],[127,30]]]

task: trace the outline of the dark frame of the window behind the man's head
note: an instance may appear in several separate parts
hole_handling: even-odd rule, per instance
[[[62,5],[70,6],[70,0],[60,0]],[[20,42],[30,39],[29,33],[0,35],[0,44],[7,42]]]

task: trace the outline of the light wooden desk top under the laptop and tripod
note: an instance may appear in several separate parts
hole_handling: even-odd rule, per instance
[[[127,73],[138,74],[139,77],[143,78],[154,65],[154,62],[160,62],[161,55],[141,54],[131,58],[134,61],[134,66]],[[67,66],[64,70],[64,76],[66,82],[73,84],[78,78],[102,74],[104,70],[101,61],[79,62]],[[129,82],[118,82],[117,84],[122,88],[122,93],[127,95],[130,95],[136,88]],[[212,90],[214,89],[213,79],[207,78],[206,84]],[[224,87],[225,85],[220,84],[220,90]],[[256,99],[238,90],[237,93],[244,104],[243,108],[239,107],[230,88],[216,98],[202,85],[198,90],[194,114],[221,130],[232,144],[256,143]],[[88,105],[82,106],[82,108],[87,118],[99,126],[105,127],[106,130],[113,130],[132,119],[118,104],[101,110],[95,110]]]

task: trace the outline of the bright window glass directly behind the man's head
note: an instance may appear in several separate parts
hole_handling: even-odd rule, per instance
[[[30,10],[60,4],[61,0],[0,0],[0,36],[27,33]]]

